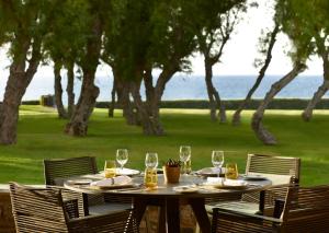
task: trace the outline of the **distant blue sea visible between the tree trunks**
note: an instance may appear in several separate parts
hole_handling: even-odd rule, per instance
[[[262,98],[271,85],[277,81],[280,75],[269,75],[263,79],[262,84],[254,93],[254,98]],[[224,100],[243,98],[252,86],[256,77],[251,75],[223,75],[214,77],[213,81],[219,95]],[[310,98],[314,92],[322,83],[322,77],[300,75],[282,90],[276,97],[282,98]],[[109,101],[112,90],[111,77],[97,77],[95,84],[100,88],[98,101]],[[66,89],[66,78],[63,79],[63,89]],[[0,80],[0,96],[2,100],[5,82]],[[54,79],[52,77],[35,77],[23,100],[38,100],[41,95],[54,93]],[[81,82],[76,81],[75,92],[79,96]],[[144,89],[141,90],[144,96]],[[66,95],[64,96],[66,98]],[[326,94],[329,97],[329,94]],[[166,86],[162,100],[206,100],[206,86],[201,75],[175,75]]]

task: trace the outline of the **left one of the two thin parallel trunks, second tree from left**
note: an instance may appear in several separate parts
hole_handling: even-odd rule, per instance
[[[60,69],[61,63],[58,60],[54,60],[54,75],[55,75],[55,103],[57,107],[58,117],[66,119],[68,118],[67,113],[63,105],[63,89],[61,89],[61,75]]]

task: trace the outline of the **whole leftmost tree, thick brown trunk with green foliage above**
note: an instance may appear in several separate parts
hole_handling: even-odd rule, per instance
[[[42,40],[52,24],[50,11],[45,0],[0,2],[0,22],[7,22],[5,37],[12,58],[1,108],[1,144],[16,142],[19,106],[42,59]]]

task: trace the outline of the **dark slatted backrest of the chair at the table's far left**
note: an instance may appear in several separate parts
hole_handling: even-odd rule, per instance
[[[94,156],[44,160],[46,185],[61,185],[60,178],[97,173]]]

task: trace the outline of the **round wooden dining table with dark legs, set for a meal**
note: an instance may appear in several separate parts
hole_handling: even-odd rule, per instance
[[[83,175],[70,177],[64,182],[64,186],[68,189],[83,193],[83,194],[111,194],[121,197],[133,198],[134,214],[139,224],[143,215],[148,206],[160,207],[158,232],[160,233],[178,233],[180,232],[180,205],[190,205],[195,219],[198,223],[200,230],[203,233],[211,232],[211,221],[208,219],[205,200],[208,198],[225,199],[232,195],[261,191],[273,184],[285,184],[285,177],[271,176],[265,179],[251,179],[246,180],[243,187],[240,186],[223,186],[213,187],[206,184],[206,178],[200,175],[181,175],[179,183],[168,184],[166,183],[163,175],[158,175],[158,186],[156,188],[146,188],[144,186],[143,174],[134,175],[132,177],[132,185],[129,186],[114,186],[95,188],[90,184],[75,183],[73,180],[81,179],[99,180],[102,177],[101,174],[97,175]]]

